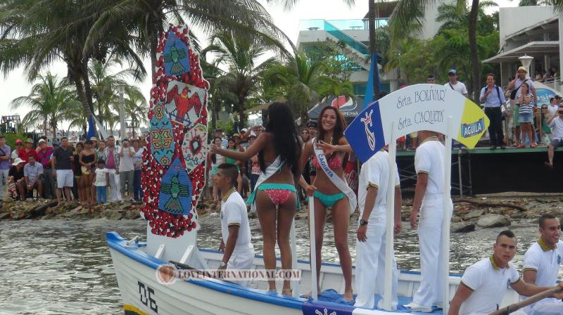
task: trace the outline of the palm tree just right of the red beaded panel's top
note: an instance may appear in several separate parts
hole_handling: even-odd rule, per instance
[[[254,41],[249,37],[242,37],[233,32],[215,34],[211,38],[209,51],[218,54],[218,58],[229,69],[225,75],[220,77],[222,84],[226,84],[227,90],[236,96],[233,103],[233,112],[239,114],[239,123],[246,123],[246,101],[258,90],[260,75],[267,65],[275,58],[267,58],[258,63],[270,51],[272,46],[263,41]]]

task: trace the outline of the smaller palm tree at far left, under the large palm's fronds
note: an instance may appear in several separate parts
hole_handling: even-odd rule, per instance
[[[45,136],[48,134],[49,127],[53,131],[53,139],[56,139],[58,123],[65,120],[65,113],[69,108],[75,107],[80,102],[75,98],[75,91],[66,79],[59,80],[56,75],[51,75],[49,72],[45,76],[37,75],[35,81],[38,82],[32,86],[30,94],[13,99],[11,107],[31,108],[23,117],[22,127],[34,127],[37,122],[42,122]]]

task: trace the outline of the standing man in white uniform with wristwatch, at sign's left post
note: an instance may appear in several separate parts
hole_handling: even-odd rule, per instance
[[[385,236],[386,236],[386,203],[388,191],[388,153],[380,150],[362,165],[360,186],[358,188],[358,204],[360,206],[360,223],[358,224],[358,242],[356,243],[356,297],[355,307],[373,309],[374,294],[384,294],[385,283]],[[395,234],[400,232],[400,194],[399,173],[395,176]],[[393,257],[393,289],[391,306],[397,309],[397,285],[399,271]],[[381,303],[381,301],[380,301]]]

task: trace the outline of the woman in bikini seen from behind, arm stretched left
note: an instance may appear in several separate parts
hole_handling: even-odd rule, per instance
[[[258,153],[261,174],[256,188],[247,203],[255,203],[264,240],[265,269],[276,269],[274,248],[277,244],[281,254],[281,268],[291,269],[291,246],[289,232],[293,212],[297,207],[295,183],[303,167],[298,165],[301,143],[298,139],[293,115],[285,103],[272,103],[268,108],[269,119],[266,131],[260,134],[246,151],[224,150],[212,146],[214,153],[227,158],[246,161]],[[276,229],[277,228],[277,229]],[[268,281],[271,292],[276,292],[275,281]],[[289,281],[284,281],[283,295],[291,295]]]

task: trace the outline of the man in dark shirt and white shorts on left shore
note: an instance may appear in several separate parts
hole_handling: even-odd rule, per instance
[[[70,203],[70,188],[72,188],[74,181],[71,165],[74,160],[72,148],[68,146],[68,138],[61,138],[61,146],[53,151],[53,157],[51,158],[53,176],[57,178],[57,201],[59,203],[61,203],[63,198],[63,188],[65,189],[66,200]]]

